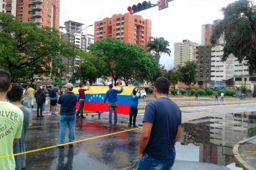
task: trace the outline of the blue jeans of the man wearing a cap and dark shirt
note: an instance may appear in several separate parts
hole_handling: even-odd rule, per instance
[[[75,114],[60,115],[60,144],[65,143],[66,125],[68,125],[69,129],[68,142],[73,142],[75,141]]]

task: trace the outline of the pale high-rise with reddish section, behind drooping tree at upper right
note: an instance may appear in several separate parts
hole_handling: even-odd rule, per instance
[[[214,30],[214,27],[219,23],[219,19],[214,20],[213,24],[207,23],[201,26],[201,45],[210,45],[210,38],[212,36],[212,32]],[[223,34],[221,37],[217,40],[216,44],[223,44],[224,43],[224,36]]]

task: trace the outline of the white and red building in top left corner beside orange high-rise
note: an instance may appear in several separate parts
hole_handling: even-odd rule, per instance
[[[16,16],[17,0],[0,0],[0,12]]]

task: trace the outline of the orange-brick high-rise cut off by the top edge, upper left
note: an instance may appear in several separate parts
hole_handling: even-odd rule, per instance
[[[17,0],[16,17],[23,23],[33,22],[59,30],[60,0]]]

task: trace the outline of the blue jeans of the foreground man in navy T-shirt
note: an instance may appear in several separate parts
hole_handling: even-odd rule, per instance
[[[151,158],[147,154],[143,156],[143,160],[139,160],[138,162],[138,170],[172,170],[172,166],[174,165],[174,158],[170,160],[155,160],[154,158]]]

